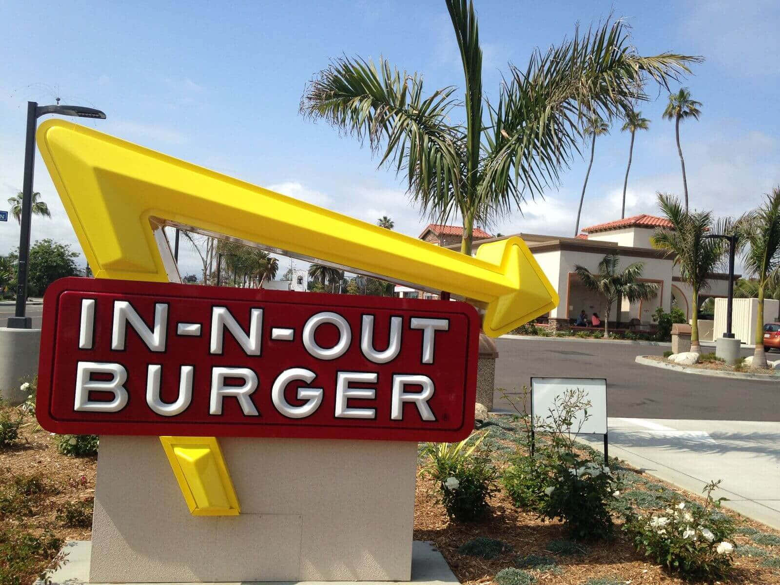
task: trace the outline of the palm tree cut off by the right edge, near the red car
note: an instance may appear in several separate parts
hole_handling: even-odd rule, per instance
[[[753,367],[767,367],[764,355],[764,296],[766,289],[780,283],[780,186],[766,196],[764,204],[749,211],[736,223],[739,239],[745,246],[745,270],[756,280],[756,348]]]

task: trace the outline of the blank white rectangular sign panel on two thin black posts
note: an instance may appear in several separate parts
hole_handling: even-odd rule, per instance
[[[583,390],[583,400],[590,401],[588,419],[582,423],[584,413],[574,417],[572,431],[580,434],[607,434],[607,381],[594,378],[531,378],[531,416],[534,425],[537,417],[542,420],[555,410],[555,399],[566,390]],[[580,427],[582,423],[582,427]],[[534,430],[537,430],[534,428]]]

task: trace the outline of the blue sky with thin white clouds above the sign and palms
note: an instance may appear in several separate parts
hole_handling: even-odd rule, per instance
[[[610,12],[633,27],[644,55],[704,55],[684,84],[704,103],[681,138],[693,207],[738,215],[780,184],[778,90],[780,5],[758,2],[498,2],[477,0],[484,88],[496,97],[507,63],[557,44],[577,22]],[[0,5],[0,209],[21,187],[26,101],[92,105],[108,114],[87,125],[220,172],[374,222],[391,216],[417,236],[424,227],[401,179],[367,147],[327,124],[303,119],[307,80],[339,55],[384,56],[424,73],[425,87],[462,86],[456,41],[443,2],[28,2]],[[676,87],[674,88],[676,89]],[[651,119],[636,137],[627,215],[654,213],[658,190],[682,195],[674,125],[661,119],[666,94],[640,105]],[[629,135],[597,140],[586,193],[587,226],[620,215]],[[573,235],[587,161],[575,158],[557,189],[503,218],[496,231]],[[76,243],[38,158],[35,188],[52,220],[33,238]],[[0,223],[0,254],[18,243]],[[183,272],[194,272],[191,254]]]

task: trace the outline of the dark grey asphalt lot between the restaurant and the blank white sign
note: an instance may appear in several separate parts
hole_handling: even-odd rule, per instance
[[[780,421],[780,381],[734,380],[643,366],[668,346],[590,340],[497,339],[496,388],[517,392],[532,376],[606,378],[609,417]],[[744,349],[743,355],[752,355]],[[778,354],[775,354],[778,355]],[[506,410],[498,393],[495,410]]]

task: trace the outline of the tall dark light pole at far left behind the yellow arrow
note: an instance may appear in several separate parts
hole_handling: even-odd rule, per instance
[[[30,256],[30,218],[32,218],[33,174],[35,168],[35,129],[42,115],[72,115],[76,118],[105,119],[105,114],[94,108],[80,105],[37,105],[27,102],[27,136],[24,142],[24,179],[22,183],[22,221],[19,234],[19,270],[16,272],[16,311],[8,317],[12,329],[31,329],[32,317],[26,317],[27,310],[27,268]]]

